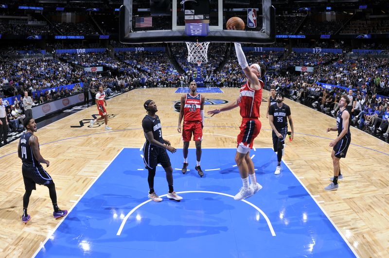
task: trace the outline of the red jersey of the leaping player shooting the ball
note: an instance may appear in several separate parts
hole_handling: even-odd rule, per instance
[[[262,102],[262,88],[264,82],[260,79],[261,89],[254,90],[248,86],[248,81],[240,88],[239,107],[242,118],[259,118],[259,107]]]

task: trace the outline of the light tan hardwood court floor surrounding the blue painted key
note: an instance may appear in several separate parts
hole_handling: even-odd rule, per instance
[[[234,101],[239,89],[223,88],[224,93],[206,93],[206,98]],[[70,209],[74,202],[94,182],[107,164],[123,147],[141,147],[144,136],[141,120],[146,114],[142,104],[147,99],[157,103],[164,138],[172,146],[182,148],[177,133],[178,113],[174,109],[180,94],[174,88],[135,89],[107,101],[111,115],[108,124],[79,128],[80,120],[96,114],[90,107],[44,128],[38,128],[41,154],[51,165],[47,171],[54,179],[58,204]],[[268,92],[264,91],[267,100]],[[287,142],[284,161],[300,177],[301,182],[317,199],[360,257],[389,256],[389,145],[356,128],[351,128],[352,145],[347,158],[341,160],[345,179],[337,191],[323,188],[332,175],[329,147],[336,132],[326,133],[336,120],[299,103],[285,100],[291,107],[295,124],[295,139]],[[271,128],[265,119],[267,102],[262,103],[262,130],[255,140],[256,147],[272,147]],[[206,105],[207,110],[222,105]],[[236,147],[236,135],[241,118],[234,109],[205,119],[205,148]],[[96,126],[96,124],[95,124]],[[28,212],[32,221],[20,222],[24,185],[18,141],[0,148],[0,252],[4,257],[31,257],[59,223],[53,219],[47,188],[37,186],[30,199]],[[190,147],[194,147],[191,142]],[[182,155],[178,152],[175,155]],[[233,157],[231,156],[231,159]],[[237,178],[238,180],[238,178]],[[258,178],[260,182],[260,177]],[[184,189],[183,189],[184,190]]]

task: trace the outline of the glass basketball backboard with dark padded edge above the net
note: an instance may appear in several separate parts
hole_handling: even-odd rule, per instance
[[[234,16],[245,21],[244,31],[227,30],[226,21]],[[275,8],[271,0],[124,0],[119,37],[127,44],[268,44],[275,41]]]

